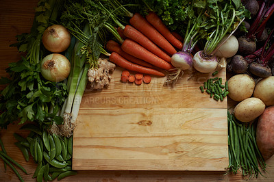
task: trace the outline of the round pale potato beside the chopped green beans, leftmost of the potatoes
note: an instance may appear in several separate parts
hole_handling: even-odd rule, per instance
[[[251,97],[256,85],[254,79],[246,74],[235,75],[227,83],[228,96],[234,101],[243,101]]]

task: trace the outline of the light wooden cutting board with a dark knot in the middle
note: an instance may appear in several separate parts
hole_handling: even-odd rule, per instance
[[[121,68],[101,92],[86,89],[73,135],[73,170],[225,170],[227,99],[199,86],[211,74],[188,70],[175,87],[164,78],[121,83]],[[218,77],[225,82],[225,69]]]

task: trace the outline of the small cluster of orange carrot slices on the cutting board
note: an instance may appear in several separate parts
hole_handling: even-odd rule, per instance
[[[142,73],[136,73],[135,75],[130,75],[128,70],[123,70],[121,74],[121,81],[123,83],[135,83],[137,86],[140,86],[142,82],[150,83],[151,76],[150,75],[143,75]]]

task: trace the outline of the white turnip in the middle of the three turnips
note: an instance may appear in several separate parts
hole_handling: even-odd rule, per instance
[[[208,56],[203,51],[195,53],[193,57],[193,67],[201,73],[212,73],[218,66],[215,55]]]

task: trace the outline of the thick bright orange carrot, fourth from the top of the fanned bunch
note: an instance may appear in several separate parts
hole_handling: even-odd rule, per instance
[[[147,49],[142,47],[140,44],[128,38],[124,40],[122,44],[122,49],[126,53],[138,57],[141,60],[145,60],[146,62],[149,62],[154,66],[157,66],[158,68],[162,68],[164,70],[169,70],[173,68],[173,66],[168,62],[162,60],[157,55],[154,55],[153,53],[147,51]]]

